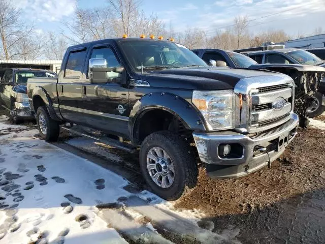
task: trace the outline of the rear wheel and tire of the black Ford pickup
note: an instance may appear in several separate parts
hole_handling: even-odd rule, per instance
[[[40,106],[37,109],[36,121],[42,139],[46,141],[57,141],[60,133],[60,125],[50,117],[45,106]]]

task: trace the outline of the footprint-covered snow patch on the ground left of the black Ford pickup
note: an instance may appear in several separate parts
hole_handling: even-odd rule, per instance
[[[0,212],[1,243],[28,243],[41,233],[49,243],[63,243],[61,239],[68,244],[126,243],[93,208],[98,202],[128,196],[122,189],[128,184],[126,180],[36,139],[36,130],[15,132],[20,126],[0,123],[2,132],[9,127],[11,132],[0,137],[0,197],[5,198],[0,200],[0,208],[6,209]],[[105,182],[99,180],[96,185],[97,179]],[[98,190],[98,185],[105,188]],[[72,212],[65,214],[61,203],[70,204]],[[81,214],[87,220],[77,222],[75,218]],[[64,230],[69,230],[66,236],[60,233]]]

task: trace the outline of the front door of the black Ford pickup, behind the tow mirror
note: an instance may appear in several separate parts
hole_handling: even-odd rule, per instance
[[[90,51],[90,58],[105,58],[107,67],[120,67],[120,59],[110,44],[94,45]],[[89,61],[88,61],[89,62]],[[87,62],[87,64],[88,64]],[[88,73],[88,65],[87,65]],[[130,112],[128,104],[128,88],[117,82],[120,74],[107,72],[107,83],[90,83],[87,79],[82,84],[83,108],[87,113],[84,119],[87,124],[101,131],[124,136],[128,134],[127,122]],[[108,131],[113,128],[114,131]]]

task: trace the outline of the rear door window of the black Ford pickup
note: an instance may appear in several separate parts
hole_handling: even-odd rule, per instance
[[[85,56],[86,50],[70,52],[64,77],[80,77]]]

